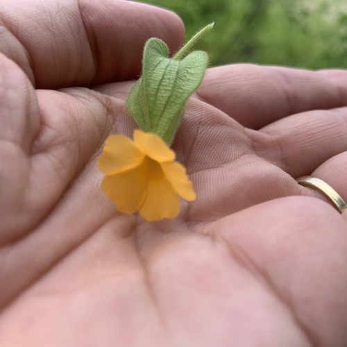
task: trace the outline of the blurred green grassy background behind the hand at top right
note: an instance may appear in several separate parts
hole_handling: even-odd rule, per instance
[[[147,0],[174,10],[187,38],[214,29],[196,46],[211,65],[253,62],[308,69],[347,68],[346,0]]]

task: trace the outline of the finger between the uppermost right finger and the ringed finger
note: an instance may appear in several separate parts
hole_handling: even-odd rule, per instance
[[[305,112],[249,134],[260,157],[298,178],[347,151],[347,108]]]

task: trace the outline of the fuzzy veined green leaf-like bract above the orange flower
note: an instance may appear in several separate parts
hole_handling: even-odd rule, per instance
[[[182,52],[180,56],[187,51],[185,47],[192,46],[192,40],[188,43],[178,52]],[[194,51],[180,60],[176,56],[168,58],[168,53],[162,40],[151,38],[146,43],[142,77],[131,88],[127,103],[141,130],[155,133],[171,144],[182,122],[185,103],[208,67],[208,55]]]

